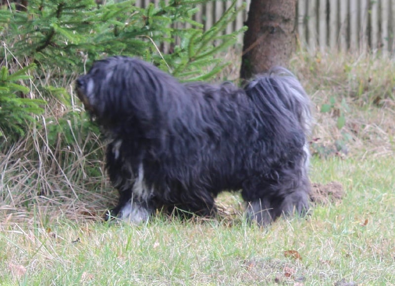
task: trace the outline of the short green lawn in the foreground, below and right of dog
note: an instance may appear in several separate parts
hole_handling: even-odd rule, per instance
[[[0,281],[26,285],[363,285],[395,283],[393,158],[312,162],[312,180],[341,182],[343,200],[307,219],[262,229],[157,218],[144,226],[67,219],[8,224],[0,234]],[[364,225],[367,220],[366,225]],[[75,242],[78,241],[78,242]],[[75,242],[75,243],[73,243]],[[301,259],[284,256],[296,250]],[[18,265],[26,272],[13,273]],[[285,277],[284,268],[292,269]]]

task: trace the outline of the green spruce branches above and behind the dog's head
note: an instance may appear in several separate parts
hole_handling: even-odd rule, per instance
[[[0,33],[5,40],[0,60],[6,69],[18,75],[21,69],[34,70],[34,84],[26,79],[19,79],[18,83],[29,89],[35,86],[37,92],[33,94],[42,100],[51,102],[57,97],[66,105],[72,102],[70,83],[76,75],[84,73],[93,61],[110,55],[138,56],[180,80],[207,81],[228,64],[215,55],[233,45],[242,32],[224,33],[244,6],[236,7],[234,0],[222,18],[205,31],[202,24],[193,20],[197,4],[205,2],[162,0],[158,6],[151,3],[141,8],[130,0],[107,1],[104,5],[94,0],[30,0],[21,11],[12,4],[3,6]],[[186,23],[189,28],[183,28]],[[171,53],[163,52],[166,44],[172,46]],[[1,108],[8,99],[19,96],[14,91],[2,93]],[[26,102],[8,105],[7,110],[20,115],[39,111],[38,105],[30,105],[34,110],[26,106],[29,106]],[[16,125],[11,123],[12,119],[3,120],[0,137],[13,131],[23,134],[22,118],[15,119]]]

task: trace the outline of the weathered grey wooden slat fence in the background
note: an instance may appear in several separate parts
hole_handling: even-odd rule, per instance
[[[159,0],[136,0],[146,6]],[[218,20],[232,1],[211,1],[200,7],[195,20],[208,29]],[[226,32],[240,29],[247,19],[250,0],[246,2]],[[317,50],[377,51],[395,54],[395,0],[297,0],[296,29],[303,46]],[[242,35],[238,38],[242,43]]]

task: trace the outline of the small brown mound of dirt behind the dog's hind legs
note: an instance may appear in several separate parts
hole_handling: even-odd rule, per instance
[[[341,202],[344,194],[344,187],[339,182],[330,182],[327,184],[312,183],[310,199],[315,204],[336,204]]]

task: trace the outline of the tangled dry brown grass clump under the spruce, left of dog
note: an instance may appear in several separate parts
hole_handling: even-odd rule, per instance
[[[33,134],[35,132],[36,134]],[[37,212],[42,219],[64,217],[73,220],[98,219],[114,196],[104,171],[90,177],[86,169],[103,161],[88,162],[78,144],[53,149],[38,130],[1,154],[0,223],[33,219]],[[91,135],[87,140],[97,140]],[[101,152],[94,150],[91,152]]]

